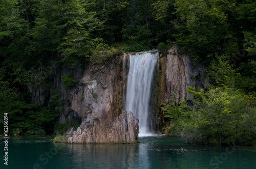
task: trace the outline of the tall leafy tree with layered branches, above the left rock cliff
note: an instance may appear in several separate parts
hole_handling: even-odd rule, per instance
[[[74,67],[88,55],[94,33],[102,23],[88,11],[88,1],[40,1],[33,29],[37,48],[59,52],[60,62]]]

